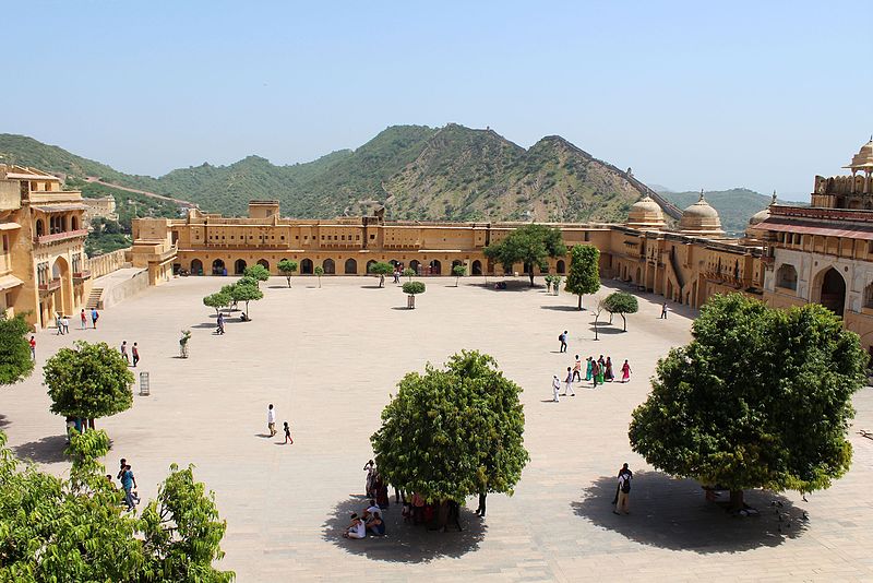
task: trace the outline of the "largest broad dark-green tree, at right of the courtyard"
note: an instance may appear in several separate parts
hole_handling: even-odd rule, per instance
[[[813,491],[849,469],[851,396],[863,386],[858,335],[816,304],[770,309],[713,296],[692,342],[658,362],[633,413],[631,445],[675,476],[731,491]]]

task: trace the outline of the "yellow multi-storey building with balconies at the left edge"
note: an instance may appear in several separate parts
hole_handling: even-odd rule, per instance
[[[89,291],[85,205],[55,176],[0,164],[0,309],[38,328],[72,316]]]

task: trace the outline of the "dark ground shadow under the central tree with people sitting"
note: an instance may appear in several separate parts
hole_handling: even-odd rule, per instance
[[[347,552],[366,555],[369,559],[392,562],[420,563],[443,557],[458,558],[479,548],[488,526],[467,508],[461,509],[461,526],[451,526],[445,533],[429,531],[424,525],[404,524],[400,504],[394,503],[383,513],[387,536],[374,537],[369,533],[362,540],[343,538],[352,512],[358,514],[368,505],[367,498],[355,496],[337,503],[322,525],[322,538]]]

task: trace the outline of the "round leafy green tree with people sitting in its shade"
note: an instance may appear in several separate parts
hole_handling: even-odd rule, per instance
[[[397,388],[370,438],[385,481],[440,502],[513,493],[529,460],[522,389],[491,356],[462,350]]]

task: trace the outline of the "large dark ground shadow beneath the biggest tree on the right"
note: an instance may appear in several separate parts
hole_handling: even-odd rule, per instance
[[[775,547],[806,530],[803,510],[778,493],[746,490],[745,503],[758,516],[729,514],[722,504],[707,502],[701,485],[661,472],[637,472],[631,491],[631,514],[612,513],[615,477],[605,476],[584,491],[574,512],[593,524],[660,548],[708,552],[742,552]],[[727,496],[725,496],[727,498]]]

